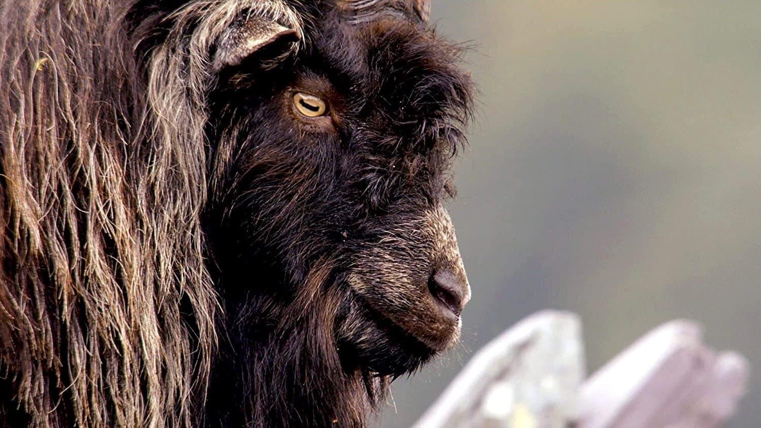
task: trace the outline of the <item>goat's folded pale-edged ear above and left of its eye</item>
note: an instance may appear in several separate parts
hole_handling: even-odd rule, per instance
[[[272,55],[263,58],[263,65],[274,65],[295,49],[299,40],[296,30],[262,17],[246,17],[231,25],[221,34],[212,63],[213,71],[239,65],[244,59],[264,48],[272,49]]]

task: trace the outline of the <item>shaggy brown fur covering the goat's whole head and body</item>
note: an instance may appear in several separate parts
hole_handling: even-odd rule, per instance
[[[470,79],[347,10],[0,2],[0,420],[361,426],[456,340]],[[251,17],[291,32],[221,55]]]

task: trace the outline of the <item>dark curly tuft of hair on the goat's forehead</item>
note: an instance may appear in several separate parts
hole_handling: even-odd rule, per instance
[[[393,19],[355,27],[326,24],[314,43],[317,61],[357,119],[389,135],[419,139],[436,128],[462,135],[472,82],[459,67],[457,46]]]

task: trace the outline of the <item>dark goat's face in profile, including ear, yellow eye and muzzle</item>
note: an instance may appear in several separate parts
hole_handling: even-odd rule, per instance
[[[472,83],[404,10],[322,5],[298,30],[238,18],[207,131],[205,222],[231,317],[260,336],[320,318],[342,366],[380,375],[457,341],[470,298],[443,204]]]

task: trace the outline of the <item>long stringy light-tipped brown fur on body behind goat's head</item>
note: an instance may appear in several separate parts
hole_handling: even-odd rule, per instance
[[[0,404],[33,425],[189,424],[209,376],[203,88],[138,77],[128,12],[0,5]]]

